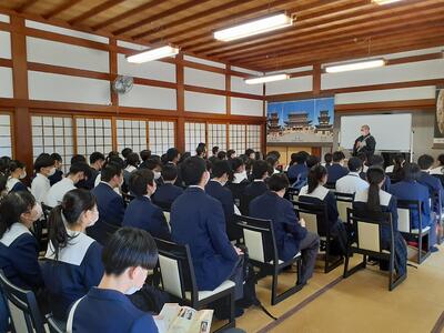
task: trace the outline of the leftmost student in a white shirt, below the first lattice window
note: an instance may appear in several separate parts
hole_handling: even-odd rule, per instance
[[[54,174],[54,160],[50,154],[40,154],[34,162],[36,178],[31,183],[31,193],[38,203],[44,202],[49,189],[51,189],[48,176]]]

